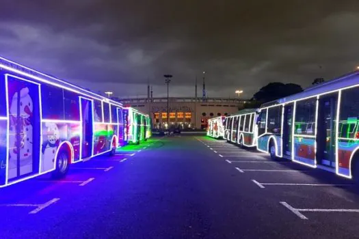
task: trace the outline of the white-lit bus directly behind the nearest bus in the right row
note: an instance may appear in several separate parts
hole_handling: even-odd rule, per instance
[[[243,109],[226,117],[226,139],[240,147],[256,146],[256,111]]]

